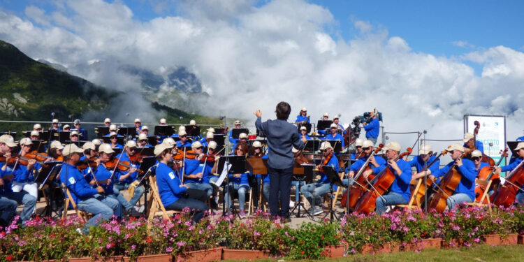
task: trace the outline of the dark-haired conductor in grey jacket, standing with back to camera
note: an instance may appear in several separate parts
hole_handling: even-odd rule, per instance
[[[261,110],[256,110],[255,126],[263,131],[268,138],[268,173],[270,179],[269,209],[271,217],[280,216],[283,221],[289,219],[289,194],[291,191],[291,175],[293,174],[293,152],[292,147],[303,148],[305,138],[300,140],[296,126],[287,122],[291,105],[286,102],[277,104],[277,119],[262,122]],[[278,195],[280,191],[280,206],[278,206]]]

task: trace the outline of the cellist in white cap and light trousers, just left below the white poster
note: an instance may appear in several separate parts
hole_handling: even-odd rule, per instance
[[[453,161],[437,170],[434,175],[435,177],[442,177],[446,175],[453,166],[457,167],[458,173],[462,176],[460,177],[460,183],[456,187],[453,195],[446,199],[447,208],[456,209],[457,204],[463,202],[471,203],[474,201],[476,171],[475,164],[470,159],[462,158],[465,152],[465,148],[462,145],[451,145],[449,152],[451,152],[451,159],[453,159]]]

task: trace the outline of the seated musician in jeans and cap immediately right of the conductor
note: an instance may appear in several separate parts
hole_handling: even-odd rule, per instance
[[[321,169],[322,166],[332,166],[335,170],[338,170],[338,159],[333,154],[333,147],[329,142],[323,142],[320,145],[322,151],[322,164],[316,166],[317,169]],[[311,184],[306,184],[302,187],[302,194],[305,196],[307,201],[310,202],[310,214],[316,215],[321,214],[322,211],[322,196],[330,191],[330,182],[326,173],[320,173],[320,179]]]

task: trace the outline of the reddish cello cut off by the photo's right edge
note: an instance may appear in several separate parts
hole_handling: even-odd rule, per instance
[[[495,194],[491,196],[490,201],[493,205],[502,205],[504,208],[508,208],[515,202],[518,191],[524,186],[524,168],[521,168],[523,164],[524,161],[518,163],[518,166],[507,175],[506,182],[501,184]]]

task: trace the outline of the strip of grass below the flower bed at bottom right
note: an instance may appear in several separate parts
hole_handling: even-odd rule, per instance
[[[265,260],[270,261],[270,260]],[[463,249],[425,249],[422,252],[397,252],[391,254],[350,255],[339,259],[323,261],[385,262],[385,261],[524,261],[524,245],[497,246],[478,245]]]

